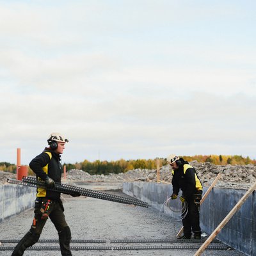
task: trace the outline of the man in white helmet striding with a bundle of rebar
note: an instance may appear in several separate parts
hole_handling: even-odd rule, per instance
[[[23,255],[26,248],[38,242],[48,218],[51,219],[58,231],[61,255],[72,255],[70,252],[71,232],[63,214],[61,193],[49,190],[54,188],[55,182],[61,182],[62,165],[60,157],[68,140],[60,133],[53,132],[47,142],[49,147],[46,147],[41,154],[29,163],[29,167],[35,172],[36,178],[45,182],[46,189],[37,188],[33,223],[28,233],[15,246],[12,256]],[[79,195],[77,193],[72,196]]]

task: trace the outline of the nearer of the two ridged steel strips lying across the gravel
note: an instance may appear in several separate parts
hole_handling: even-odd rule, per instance
[[[14,250],[14,246],[0,246],[0,251]],[[132,251],[132,250],[198,250],[198,246],[70,246],[71,250],[81,251]],[[228,250],[228,246],[208,246],[207,250]],[[60,246],[31,246],[27,250],[60,250]]]

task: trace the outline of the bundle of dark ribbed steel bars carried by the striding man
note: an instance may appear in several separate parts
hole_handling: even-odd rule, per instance
[[[77,186],[72,186],[68,184],[60,184],[55,182],[54,188],[47,188],[44,181],[37,180],[34,177],[23,177],[22,180],[8,179],[8,183],[17,184],[22,186],[30,186],[34,188],[45,188],[47,190],[60,192],[67,195],[72,195],[74,193],[79,193],[81,196],[89,196],[93,198],[99,198],[102,200],[108,200],[113,202],[118,202],[122,204],[138,205],[141,207],[148,207],[148,203],[138,200],[137,198],[125,198],[122,196],[111,195],[101,191],[95,191],[92,189],[80,188]]]

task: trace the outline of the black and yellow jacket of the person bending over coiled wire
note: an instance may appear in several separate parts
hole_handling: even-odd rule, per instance
[[[172,170],[173,193],[178,195],[181,189],[184,198],[191,198],[196,192],[202,191],[203,187],[197,177],[195,168],[184,159],[180,158],[179,160],[182,164],[177,170]]]

